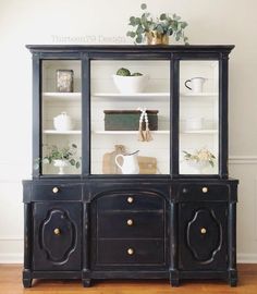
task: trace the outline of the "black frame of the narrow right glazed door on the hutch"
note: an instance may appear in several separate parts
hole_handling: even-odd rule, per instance
[[[172,101],[172,137],[171,137],[171,162],[173,179],[194,177],[220,177],[228,179],[228,83],[229,83],[229,52],[198,52],[198,53],[172,53],[173,86],[171,87]],[[180,152],[180,63],[181,61],[217,61],[219,62],[219,170],[218,174],[181,174],[179,167]]]

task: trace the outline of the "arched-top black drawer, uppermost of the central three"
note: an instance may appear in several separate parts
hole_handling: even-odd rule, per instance
[[[164,200],[152,195],[133,193],[108,195],[97,200],[98,211],[102,210],[163,210]]]

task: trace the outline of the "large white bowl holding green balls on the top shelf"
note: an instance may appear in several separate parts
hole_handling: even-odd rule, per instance
[[[142,93],[145,89],[148,75],[122,76],[113,74],[112,78],[120,93],[132,94]]]

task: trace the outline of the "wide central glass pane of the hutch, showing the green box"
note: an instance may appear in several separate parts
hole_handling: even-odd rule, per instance
[[[91,173],[170,173],[170,61],[98,60],[90,69]],[[133,73],[143,75],[122,76]]]

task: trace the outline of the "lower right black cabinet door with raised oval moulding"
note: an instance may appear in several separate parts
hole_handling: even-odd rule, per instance
[[[227,204],[181,204],[180,268],[225,269]]]

